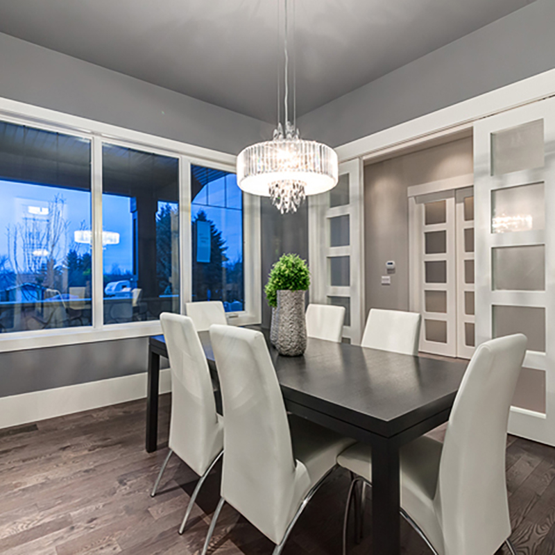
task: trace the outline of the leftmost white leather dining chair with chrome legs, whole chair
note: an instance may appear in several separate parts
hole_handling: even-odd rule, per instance
[[[171,419],[169,453],[151,495],[156,494],[172,453],[200,476],[179,529],[183,533],[196,496],[221,457],[223,419],[216,412],[210,370],[193,321],[188,316],[163,312],[160,323],[171,368]]]

